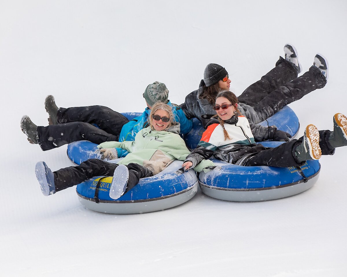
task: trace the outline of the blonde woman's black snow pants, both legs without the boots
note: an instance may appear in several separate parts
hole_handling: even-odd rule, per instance
[[[118,164],[116,163],[105,162],[98,159],[90,159],[82,162],[76,167],[59,169],[58,171],[53,172],[56,191],[78,185],[92,177],[113,176],[113,173],[117,167]],[[129,169],[127,191],[132,189],[139,182],[140,178],[152,176],[152,172],[150,170],[140,166],[137,163],[129,163],[126,167]]]

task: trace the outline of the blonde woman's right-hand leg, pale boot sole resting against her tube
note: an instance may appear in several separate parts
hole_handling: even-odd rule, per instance
[[[118,199],[136,186],[140,178],[151,177],[152,175],[152,171],[137,163],[129,163],[127,166],[120,164],[113,174],[110,197]]]

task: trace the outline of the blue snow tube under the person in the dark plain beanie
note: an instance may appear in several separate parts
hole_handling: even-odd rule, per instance
[[[273,116],[270,116],[267,121],[259,123],[262,126],[277,126],[278,129],[285,131],[294,138],[299,132],[299,120],[294,113],[294,111],[288,106],[283,107],[280,111],[278,111]],[[205,131],[201,122],[196,118],[193,119],[193,128],[192,130],[184,136],[184,140],[187,146],[190,149],[196,148],[196,145],[199,143],[202,133]],[[262,142],[265,147],[276,147],[281,142]]]

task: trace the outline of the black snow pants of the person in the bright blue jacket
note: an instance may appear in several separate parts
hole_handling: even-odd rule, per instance
[[[103,106],[59,108],[57,116],[57,125],[37,127],[37,141],[43,151],[80,140],[96,144],[118,141],[123,125],[129,122],[122,114]]]

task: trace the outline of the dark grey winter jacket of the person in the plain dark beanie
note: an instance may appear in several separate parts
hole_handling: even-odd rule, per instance
[[[204,80],[201,80],[199,89],[189,93],[183,104],[179,105],[187,118],[197,118],[203,122],[203,115],[215,115],[216,112],[208,99],[200,99],[199,96],[203,93]],[[247,117],[249,123],[258,124],[259,116],[254,108],[243,103],[238,103],[238,109],[241,114]]]

